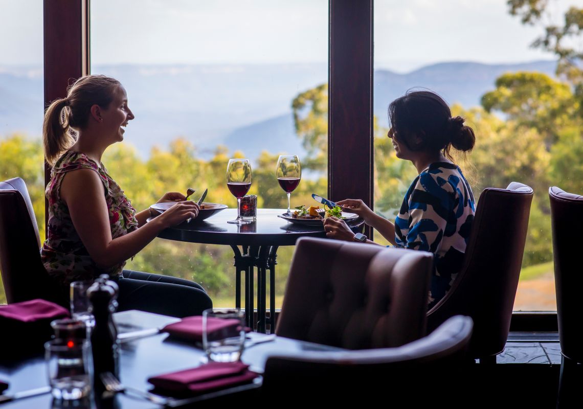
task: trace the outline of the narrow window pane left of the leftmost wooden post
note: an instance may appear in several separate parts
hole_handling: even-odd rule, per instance
[[[0,9],[0,181],[24,179],[44,240],[43,1],[0,0]]]

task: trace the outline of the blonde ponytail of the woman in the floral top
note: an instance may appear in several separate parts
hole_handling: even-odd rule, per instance
[[[44,157],[51,166],[75,143],[75,138],[70,133],[69,108],[66,105],[66,98],[59,98],[52,101],[44,113]]]

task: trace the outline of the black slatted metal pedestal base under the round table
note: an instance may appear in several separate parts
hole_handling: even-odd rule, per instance
[[[241,308],[241,273],[245,273],[245,320],[257,332],[265,333],[266,317],[266,279],[269,270],[269,325],[275,332],[275,265],[278,246],[242,246],[241,252],[231,245],[235,266],[235,306]],[[254,322],[254,267],[257,267],[257,322]]]

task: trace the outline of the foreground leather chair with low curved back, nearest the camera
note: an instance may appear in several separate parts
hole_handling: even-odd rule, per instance
[[[471,334],[472,319],[455,316],[401,347],[278,354],[266,361],[262,393],[268,400],[307,407],[378,401],[392,407],[461,407],[462,402],[467,407],[461,371]]]

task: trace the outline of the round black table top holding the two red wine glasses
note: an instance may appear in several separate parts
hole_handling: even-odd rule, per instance
[[[212,217],[179,224],[160,232],[158,237],[203,244],[247,246],[293,246],[300,237],[326,237],[324,227],[289,223],[278,214],[285,209],[257,209],[257,221],[250,224],[230,224],[237,218],[237,209],[225,209]],[[364,221],[357,218],[349,223],[354,231],[360,230]]]

